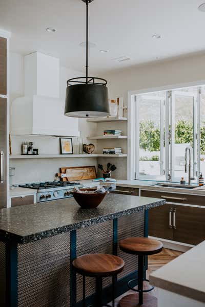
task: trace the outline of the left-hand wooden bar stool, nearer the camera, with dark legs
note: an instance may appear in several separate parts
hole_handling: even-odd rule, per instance
[[[114,279],[125,266],[124,260],[110,254],[88,254],[73,260],[77,273],[83,275],[83,307],[86,307],[86,276],[95,277],[95,306],[108,306],[102,303],[103,277],[112,276],[112,307],[115,305]],[[91,305],[90,305],[91,306]],[[89,307],[90,307],[89,306]],[[92,305],[93,306],[93,305]]]

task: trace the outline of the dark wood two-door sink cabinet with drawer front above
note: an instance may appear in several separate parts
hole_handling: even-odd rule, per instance
[[[166,192],[141,191],[141,196],[161,198],[167,196]],[[205,208],[194,207],[194,205],[204,206],[204,196],[175,195],[169,193],[167,201],[180,202],[179,198],[186,198],[192,206],[166,204],[149,210],[148,234],[150,236],[173,240],[186,244],[196,245],[205,240]],[[203,199],[202,199],[203,198]],[[181,203],[184,201],[181,200]]]

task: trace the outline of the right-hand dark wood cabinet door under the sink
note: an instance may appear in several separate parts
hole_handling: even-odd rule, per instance
[[[176,229],[174,241],[199,244],[205,239],[205,209],[188,206],[174,206]]]

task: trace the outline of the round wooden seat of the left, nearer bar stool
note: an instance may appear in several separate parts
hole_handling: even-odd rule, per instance
[[[75,271],[89,277],[117,275],[124,269],[125,262],[110,254],[88,254],[73,260]]]

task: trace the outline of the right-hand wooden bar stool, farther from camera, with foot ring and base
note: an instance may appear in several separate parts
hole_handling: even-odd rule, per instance
[[[157,299],[152,295],[145,295],[143,297],[144,292],[149,292],[154,289],[151,287],[148,290],[143,290],[143,281],[149,281],[148,279],[144,278],[144,256],[153,255],[159,253],[163,245],[160,241],[150,239],[150,238],[127,238],[121,240],[119,243],[119,247],[122,251],[132,255],[138,255],[138,278],[132,279],[128,282],[128,287],[138,292],[138,294],[130,294],[122,297],[119,301],[120,307],[156,307],[157,306]],[[138,287],[134,289],[131,287],[131,283],[133,281],[138,280]],[[138,303],[137,303],[138,300]]]

